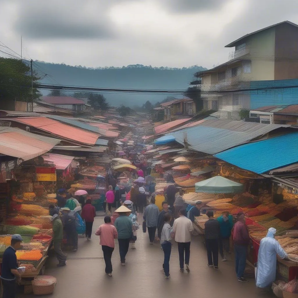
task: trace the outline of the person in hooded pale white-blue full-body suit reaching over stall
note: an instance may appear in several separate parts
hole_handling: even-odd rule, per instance
[[[256,286],[258,288],[267,288],[274,282],[276,277],[276,254],[283,259],[288,258],[288,254],[274,239],[275,233],[276,229],[268,229],[266,237],[260,242],[256,275]]]

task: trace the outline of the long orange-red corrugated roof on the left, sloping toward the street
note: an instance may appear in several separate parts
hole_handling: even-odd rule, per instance
[[[98,134],[84,131],[46,117],[20,117],[10,118],[9,120],[39,128],[63,139],[88,145],[94,145],[99,137]]]

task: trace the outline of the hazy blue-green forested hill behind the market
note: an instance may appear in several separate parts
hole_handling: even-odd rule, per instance
[[[69,66],[35,61],[36,70],[42,76],[49,76],[41,81],[47,84],[118,88],[118,89],[183,89],[186,90],[193,74],[204,70],[202,66],[183,68],[151,67],[140,64],[123,67],[86,68],[84,66]],[[34,68],[34,67],[33,67]],[[43,73],[42,73],[43,72]],[[46,95],[47,90],[42,90]],[[151,103],[162,101],[167,96],[182,97],[179,94],[131,94],[103,93],[109,105],[118,106],[142,105],[147,100]]]

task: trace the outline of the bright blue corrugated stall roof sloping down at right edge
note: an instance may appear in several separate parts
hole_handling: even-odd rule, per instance
[[[298,162],[298,132],[241,145],[214,156],[257,174]]]

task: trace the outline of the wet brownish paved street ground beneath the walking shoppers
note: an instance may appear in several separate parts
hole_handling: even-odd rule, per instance
[[[141,222],[141,216],[139,219]],[[102,223],[103,217],[95,218],[93,234]],[[113,277],[108,277],[99,237],[92,235],[91,241],[87,241],[80,236],[78,251],[68,252],[65,267],[57,268],[57,259],[50,255],[45,274],[55,276],[58,281],[54,293],[43,297],[275,297],[256,289],[254,278],[249,279],[249,283],[239,283],[233,260],[220,260],[218,270],[207,267],[206,250],[198,237],[191,243],[189,274],[179,271],[178,248],[174,245],[170,259],[171,277],[167,280],[162,272],[163,252],[159,244],[149,245],[148,234],[144,234],[141,227],[137,238],[136,249],[130,248],[126,256],[126,266],[120,265],[116,243],[112,257]]]

